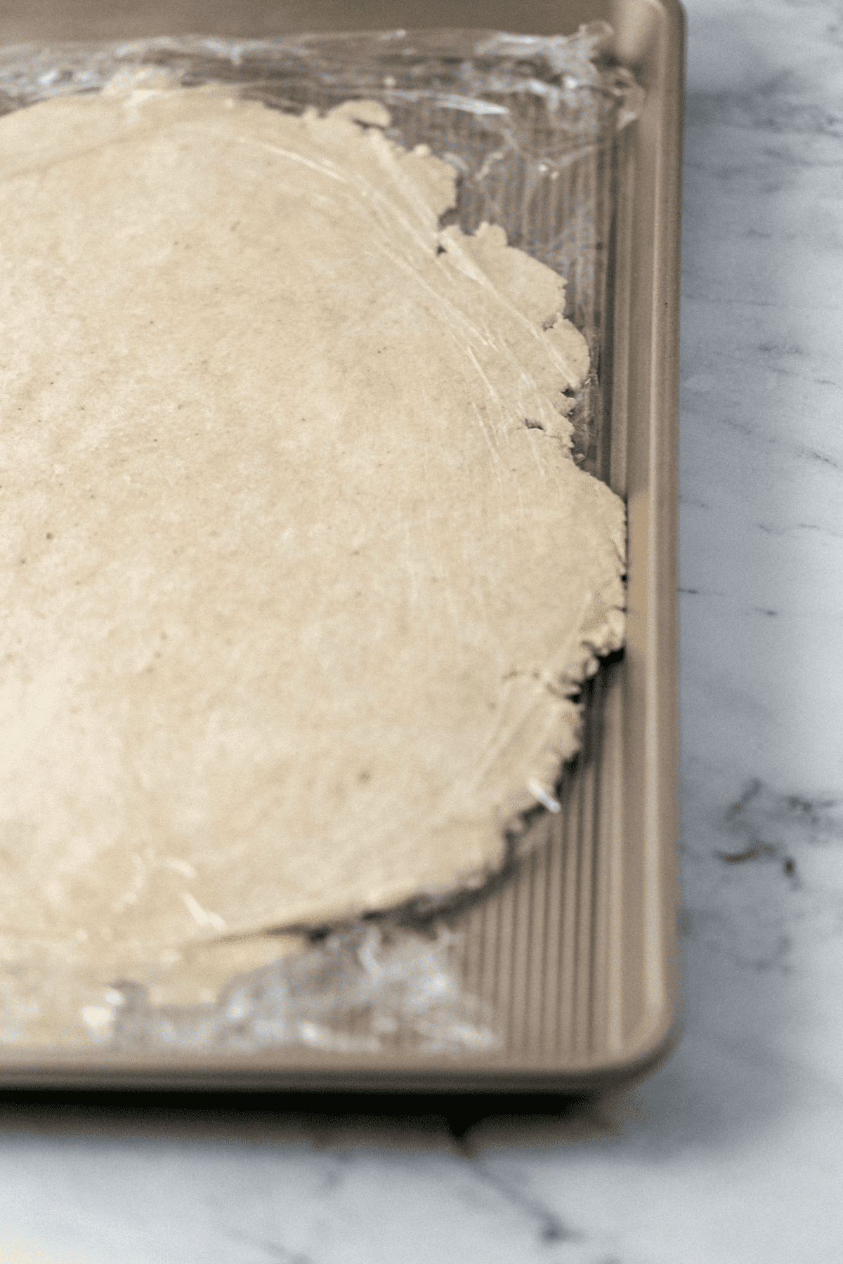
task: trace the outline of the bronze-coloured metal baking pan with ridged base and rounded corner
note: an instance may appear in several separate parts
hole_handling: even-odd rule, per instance
[[[599,425],[588,464],[628,506],[628,628],[617,661],[586,686],[583,751],[542,842],[483,899],[451,910],[465,987],[494,1012],[492,1052],[257,1053],[112,1045],[5,1047],[0,1086],[583,1092],[638,1076],[670,1050],[679,1014],[676,514],[679,230],[684,14],[677,0],[575,0],[518,8],[262,3],[214,19],[202,6],[129,18],[109,6],[20,10],[4,42],[139,38],[185,30],[483,28],[567,34],[608,20],[613,53],[646,90],[604,178]],[[576,316],[575,316],[576,319]]]

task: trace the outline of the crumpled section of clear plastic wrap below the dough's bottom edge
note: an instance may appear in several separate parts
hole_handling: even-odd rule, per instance
[[[239,975],[211,1005],[150,1005],[129,981],[106,994],[102,1026],[119,1048],[226,1053],[306,1045],[378,1053],[384,1042],[415,1052],[485,1052],[497,1044],[490,1007],[466,992],[454,937],[356,927],[272,966]]]

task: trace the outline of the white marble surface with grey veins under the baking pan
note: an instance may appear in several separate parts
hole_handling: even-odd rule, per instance
[[[843,1259],[843,14],[688,9],[682,1044],[461,1148],[6,1107],[3,1264]]]

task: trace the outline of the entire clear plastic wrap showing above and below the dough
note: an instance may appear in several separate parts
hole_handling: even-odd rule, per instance
[[[379,101],[391,139],[425,143],[456,169],[458,205],[444,222],[468,233],[499,224],[512,245],[567,278],[565,315],[591,351],[570,415],[574,458],[599,477],[613,191],[622,133],[643,100],[612,63],[610,35],[597,21],[569,38],[432,30],[27,46],[0,51],[0,112],[101,91],[115,76],[148,87],[224,82],[293,112]],[[541,815],[513,836],[494,882],[541,833]],[[92,1039],[130,1048],[492,1049],[494,1005],[465,982],[460,935],[441,924],[451,913],[432,894],[383,919],[317,928],[301,952],[235,977],[212,1004],[153,1005],[140,985],[115,981],[85,1021]]]

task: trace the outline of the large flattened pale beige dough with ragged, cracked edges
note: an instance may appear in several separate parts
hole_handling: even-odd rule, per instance
[[[623,629],[586,346],[385,121],[198,88],[0,124],[9,943],[114,975],[445,891],[576,747]]]

